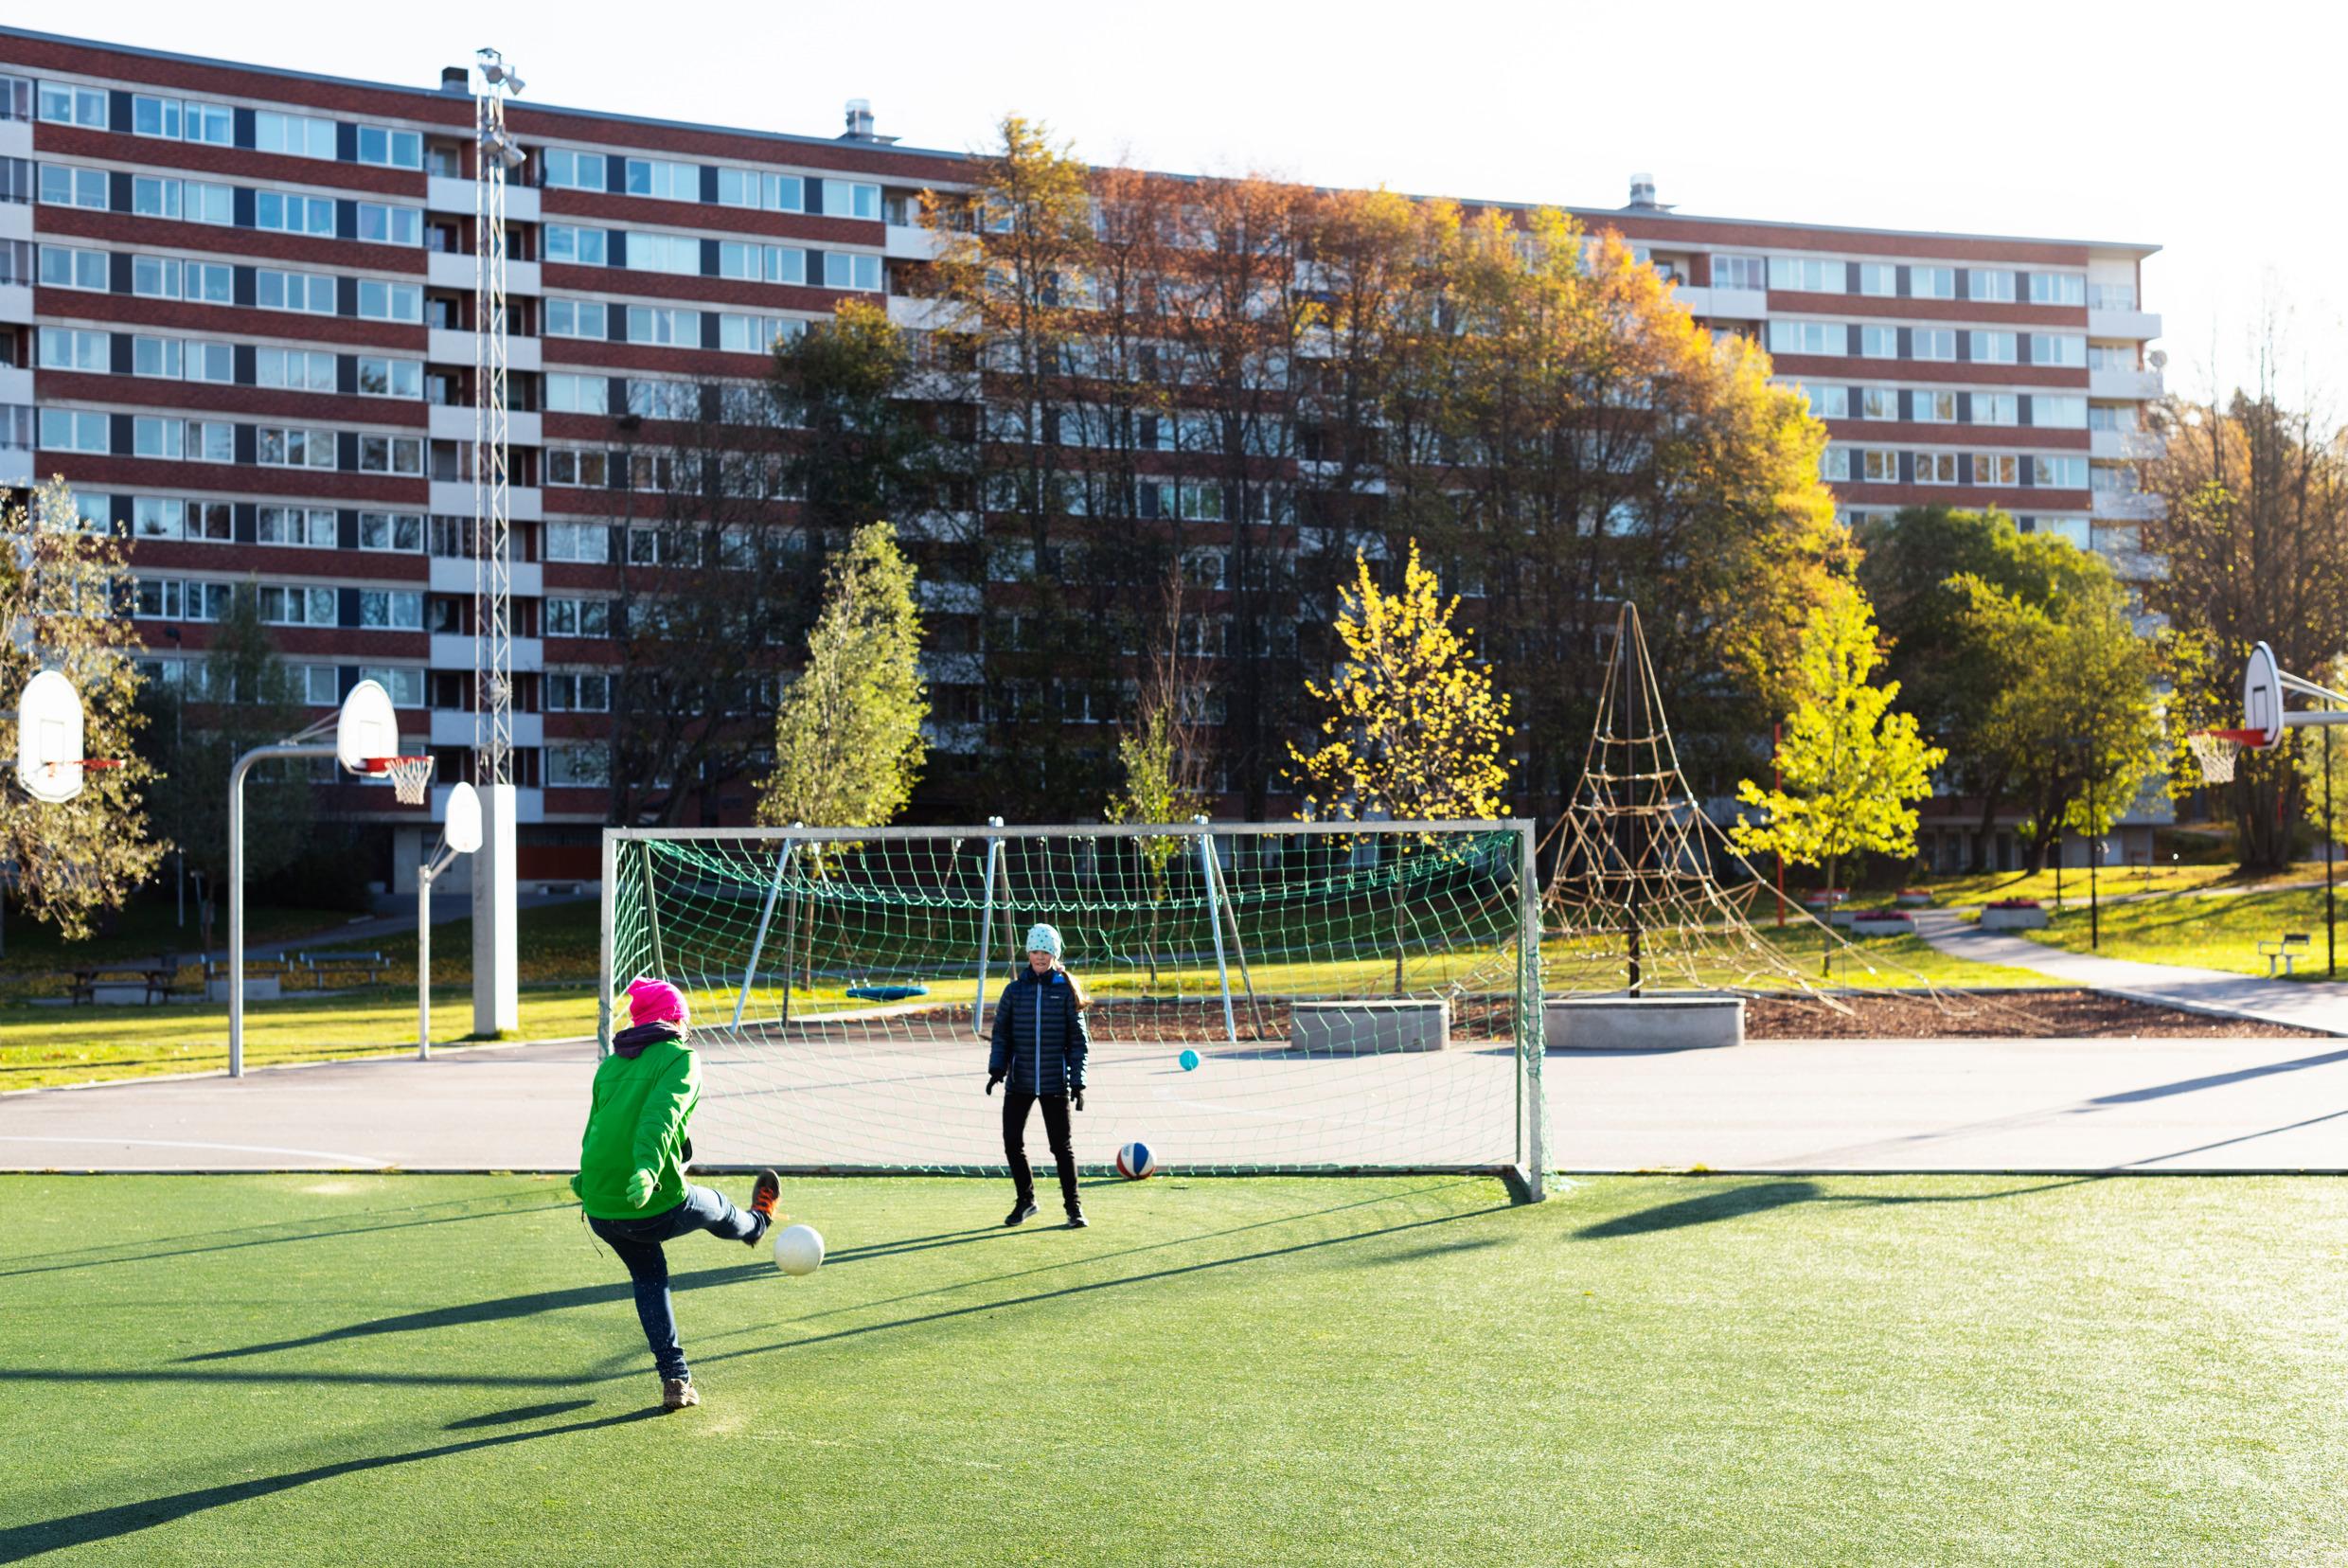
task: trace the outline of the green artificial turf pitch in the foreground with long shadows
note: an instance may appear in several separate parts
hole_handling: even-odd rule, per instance
[[[733,1183],[740,1185],[740,1183]],[[0,1178],[0,1561],[2306,1563],[2348,1183],[787,1183],[655,1380],[554,1178]]]

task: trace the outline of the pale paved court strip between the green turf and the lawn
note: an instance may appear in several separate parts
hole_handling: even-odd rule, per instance
[[[718,1049],[697,1155],[993,1164],[1000,1101],[979,1091],[979,1056],[873,1059],[772,1091]],[[582,1040],[9,1094],[0,1169],[566,1171],[592,1073]],[[909,1099],[939,1073],[951,1099]],[[1430,1094],[1437,1073],[1458,1075],[1449,1094]],[[1550,1162],[1578,1171],[2348,1171],[2336,1040],[1756,1040],[1552,1052],[1545,1082]],[[1101,1063],[1075,1136],[1089,1164],[1134,1136],[1169,1171],[1249,1155],[1388,1164],[1439,1153],[1425,1141],[1446,1129],[1505,1150],[1507,1115],[1505,1056],[1233,1056],[1181,1073],[1160,1047]]]

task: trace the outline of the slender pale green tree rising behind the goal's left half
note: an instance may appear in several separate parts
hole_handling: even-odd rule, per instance
[[[895,528],[864,523],[824,573],[808,664],[775,711],[758,822],[885,826],[913,796],[927,716],[913,563]]]

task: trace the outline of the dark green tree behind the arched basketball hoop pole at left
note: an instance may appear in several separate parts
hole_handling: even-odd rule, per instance
[[[261,624],[251,582],[230,589],[204,660],[183,669],[176,688],[157,688],[148,699],[150,746],[171,779],[157,791],[155,810],[197,883],[197,932],[209,951],[214,913],[228,890],[228,775],[239,756],[294,735],[310,714]],[[261,763],[247,775],[247,887],[301,854],[310,817],[305,763]]]

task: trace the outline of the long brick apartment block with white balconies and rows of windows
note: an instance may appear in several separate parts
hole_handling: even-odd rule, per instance
[[[232,584],[319,711],[378,678],[470,777],[472,122],[463,70],[397,87],[0,28],[0,484],[63,474],[131,540],[153,674],[195,678]],[[514,772],[524,883],[594,876],[625,432],[749,380],[932,254],[953,153],[521,99],[512,235]],[[1761,338],[1834,432],[1850,514],[2000,505],[2144,570],[2132,460],[2158,369],[2151,246],[1583,211]],[[390,791],[331,810],[418,824]],[[702,805],[740,822],[749,800]],[[385,866],[385,873],[390,869]]]

